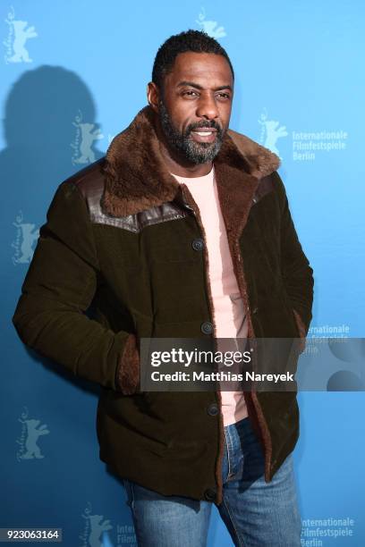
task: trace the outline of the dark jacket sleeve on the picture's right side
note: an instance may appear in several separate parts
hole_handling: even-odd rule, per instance
[[[274,175],[281,207],[280,241],[284,287],[292,302],[298,331],[304,337],[312,318],[313,270],[295,231],[284,183],[277,172]]]

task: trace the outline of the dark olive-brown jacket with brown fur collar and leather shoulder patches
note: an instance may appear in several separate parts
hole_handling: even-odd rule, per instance
[[[313,277],[279,158],[228,130],[214,164],[249,337],[304,337]],[[214,338],[204,242],[199,209],[166,170],[146,106],[105,157],[56,190],[13,324],[30,348],[102,386],[100,459],[117,475],[219,504],[220,392],[140,392],[140,338]],[[244,396],[269,482],[298,439],[296,393]]]

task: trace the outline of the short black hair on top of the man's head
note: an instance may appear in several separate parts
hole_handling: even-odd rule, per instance
[[[188,51],[223,55],[231,68],[234,80],[233,66],[225,48],[215,38],[210,37],[207,32],[190,29],[170,36],[158,48],[152,68],[152,81],[158,88],[163,88],[164,78],[172,70],[177,55]]]

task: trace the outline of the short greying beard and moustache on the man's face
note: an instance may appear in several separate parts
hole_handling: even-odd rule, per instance
[[[213,161],[222,146],[225,136],[224,130],[214,120],[191,123],[185,131],[180,132],[174,127],[166,105],[161,99],[159,101],[158,116],[166,141],[174,150],[183,155],[192,164],[207,164]],[[216,129],[216,139],[214,142],[195,142],[191,139],[191,130],[201,127]]]

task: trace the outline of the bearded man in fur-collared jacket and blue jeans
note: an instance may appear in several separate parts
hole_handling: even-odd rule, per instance
[[[205,544],[213,502],[236,545],[301,544],[295,392],[140,391],[140,338],[309,329],[279,160],[228,130],[233,79],[207,34],[166,40],[149,105],[57,189],[13,316],[24,343],[103,387],[100,459],[140,545]]]

